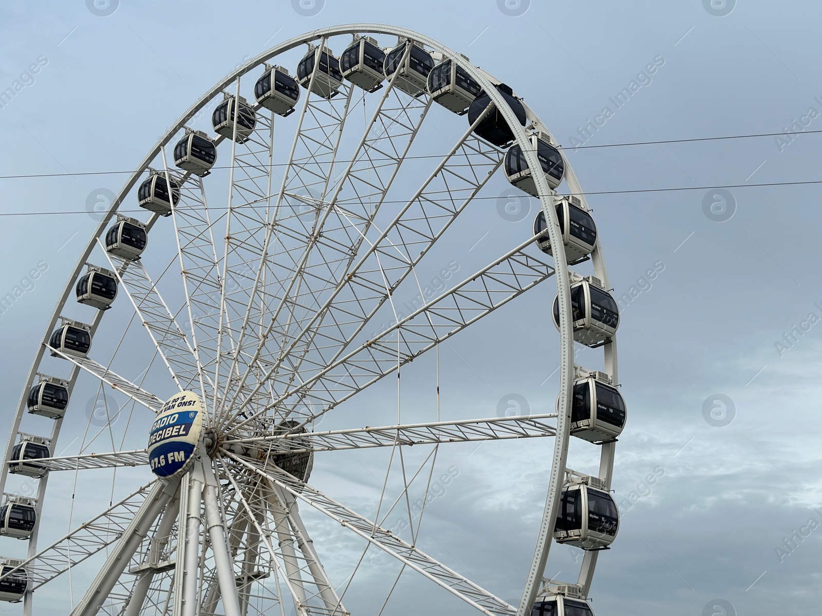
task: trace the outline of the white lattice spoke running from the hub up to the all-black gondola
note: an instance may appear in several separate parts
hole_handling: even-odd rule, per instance
[[[478,118],[474,125],[480,119],[482,117]],[[404,123],[408,123],[409,126],[403,131],[413,136],[417,129],[414,128],[410,117]],[[386,122],[383,124],[392,126]],[[441,237],[456,216],[469,205],[473,196],[501,164],[499,150],[473,138],[471,128],[436,166],[389,227],[385,230],[373,229],[376,237],[367,240],[367,251],[353,267],[350,266],[353,259],[349,259],[349,267],[339,274],[339,280],[326,280],[327,277],[320,276],[320,282],[325,285],[321,290],[324,293],[330,292],[329,297],[316,308],[311,305],[298,306],[311,315],[311,318],[304,319],[305,327],[293,338],[289,346],[280,342],[273,347],[275,352],[263,355],[270,364],[266,378],[263,379],[266,383],[276,375],[279,382],[284,382],[284,386],[289,387],[295,379],[307,379],[306,370],[301,370],[303,364],[307,365],[307,370],[316,370],[316,365],[335,361],[345,348],[349,347],[353,338],[362,331],[367,321],[388,300],[390,292],[413,272],[415,264]],[[378,137],[383,138],[382,133],[378,134]],[[396,166],[392,171],[395,173],[399,169],[404,150],[394,145],[391,149],[394,153],[390,156],[396,159]],[[363,151],[369,154],[369,150]],[[399,155],[400,152],[402,156]],[[389,153],[385,152],[384,155],[387,158]],[[377,205],[379,203],[381,199]],[[351,227],[347,216],[341,215],[340,219],[343,227]],[[358,232],[357,241],[349,248],[352,253],[356,253],[363,240],[367,239],[365,232],[368,230],[366,227],[364,232]],[[398,251],[398,246],[402,251]],[[385,268],[379,264],[381,258],[389,263]],[[389,276],[387,282],[386,271]],[[386,286],[389,287],[388,291]],[[277,340],[282,341],[283,335],[281,334]],[[302,353],[295,353],[297,356],[291,358],[290,354],[298,343],[302,345]],[[233,405],[236,407],[235,416],[252,402],[254,393],[256,389],[247,393],[242,403]]]

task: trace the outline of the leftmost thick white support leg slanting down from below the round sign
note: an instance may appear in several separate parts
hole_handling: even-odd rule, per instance
[[[72,616],[95,616],[109,598],[118,578],[127,567],[141,541],[145,539],[151,525],[157,516],[173,498],[178,489],[179,480],[158,481],[151,489],[145,503],[137,511],[132,522],[126,527],[122,537],[114,549],[109,552],[109,558],[103,568],[91,583],[88,591],[76,608]]]

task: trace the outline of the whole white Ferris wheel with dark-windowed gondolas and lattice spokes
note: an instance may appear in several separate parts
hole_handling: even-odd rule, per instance
[[[421,283],[499,174],[538,198],[533,232],[483,245],[469,272],[442,270],[441,288]],[[556,412],[447,421],[437,407],[432,421],[403,423],[398,411],[363,427],[349,412],[345,428],[320,425],[552,277],[556,300],[532,316],[560,333]],[[609,489],[626,421],[608,288],[580,184],[512,87],[388,25],[270,48],[150,150],[67,281],[0,475],[0,600],[29,616],[73,576],[84,585],[74,616],[349,614],[346,593],[376,551],[483,614],[592,614],[598,553],[619,523]],[[575,344],[602,349],[601,363],[576,365]],[[80,388],[96,388],[105,421],[77,408]],[[71,430],[83,445],[64,456]],[[509,605],[418,548],[409,493],[427,494],[440,447],[538,437],[553,439],[546,505],[522,599]],[[598,448],[596,476],[567,466],[572,438]],[[427,452],[416,474],[392,471],[412,445]],[[315,465],[335,464],[331,452],[373,448],[390,450],[376,516],[310,483]],[[67,533],[41,523],[57,507],[47,483],[75,494]],[[387,528],[387,512],[406,508],[409,525]],[[312,516],[335,525],[331,545],[326,532],[313,539]],[[331,579],[321,556],[351,538],[363,555]],[[576,577],[546,577],[552,541],[583,550]],[[377,597],[383,609],[393,590]]]

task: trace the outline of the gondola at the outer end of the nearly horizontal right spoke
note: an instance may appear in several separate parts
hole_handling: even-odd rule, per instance
[[[559,400],[557,400],[559,403]],[[591,443],[616,439],[625,427],[625,400],[603,372],[574,381],[570,433]]]

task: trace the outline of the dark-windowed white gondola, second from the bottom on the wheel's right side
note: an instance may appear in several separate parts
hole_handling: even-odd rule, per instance
[[[562,489],[556,516],[557,543],[582,549],[603,549],[611,545],[619,529],[617,503],[605,490],[579,483]]]

